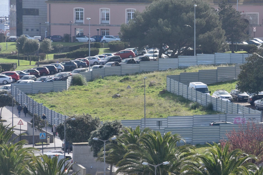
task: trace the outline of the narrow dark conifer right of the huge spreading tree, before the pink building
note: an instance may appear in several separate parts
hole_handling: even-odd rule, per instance
[[[232,7],[227,0],[219,3],[219,19],[222,22],[222,29],[225,30],[227,40],[231,41],[231,52],[234,53],[234,42],[247,40],[248,22],[241,18],[241,12]]]

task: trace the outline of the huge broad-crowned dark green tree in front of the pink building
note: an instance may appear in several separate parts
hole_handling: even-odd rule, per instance
[[[194,15],[194,4],[195,15]],[[153,1],[142,12],[136,12],[129,24],[122,24],[120,37],[131,46],[154,46],[159,48],[159,57],[165,52],[163,44],[172,50],[171,57],[178,57],[194,47],[194,19],[196,26],[196,45],[201,48],[211,45],[202,35],[211,36],[214,48],[208,53],[223,50],[224,31],[216,10],[207,3],[197,0],[158,0]],[[217,37],[213,37],[217,33]],[[206,42],[205,42],[206,41]],[[205,50],[206,51],[206,50]]]

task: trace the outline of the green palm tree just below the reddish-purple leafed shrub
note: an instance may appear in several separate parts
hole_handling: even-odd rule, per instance
[[[255,168],[254,164],[248,163],[256,159],[255,156],[247,155],[240,149],[230,152],[229,143],[226,143],[224,149],[220,143],[210,146],[211,148],[204,155],[195,155],[199,159],[198,162],[187,163],[182,175],[234,175]]]

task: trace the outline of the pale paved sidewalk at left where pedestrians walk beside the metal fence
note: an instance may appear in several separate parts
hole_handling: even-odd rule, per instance
[[[19,121],[21,120],[23,122],[23,125],[21,125],[21,133],[27,132],[27,122],[30,122],[32,119],[32,116],[27,113],[26,117],[25,114],[23,113],[23,110],[21,111],[20,118],[18,117],[18,111],[16,110],[17,105],[13,107],[13,125],[14,127],[14,132],[15,134],[20,134],[20,125],[18,125]],[[6,106],[2,110],[2,119],[5,119],[6,122],[3,122],[4,125],[9,125],[9,127],[12,127],[12,106]],[[45,132],[45,129],[48,132],[51,132],[51,127],[47,126],[43,128],[43,131]],[[35,134],[36,135],[36,134]],[[62,140],[59,139],[58,136],[55,138],[55,143],[56,143],[56,149],[61,150],[62,146]],[[46,146],[44,145],[44,149],[55,149],[55,143],[50,143],[50,145]],[[25,145],[24,147],[32,147],[32,144],[30,145]],[[34,146],[34,148],[42,149],[42,145],[39,146]]]

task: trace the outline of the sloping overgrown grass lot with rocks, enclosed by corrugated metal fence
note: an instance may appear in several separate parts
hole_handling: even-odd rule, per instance
[[[220,67],[229,65],[220,65]],[[178,75],[180,72],[197,72],[204,69],[216,69],[216,66],[195,66],[186,69],[156,71],[129,76],[108,76],[88,82],[87,86],[72,86],[68,91],[50,92],[46,94],[29,95],[49,109],[63,115],[80,115],[89,113],[101,120],[132,120],[144,117],[144,81],[146,79],[146,117],[160,118],[180,115],[216,114],[216,111],[206,111],[203,107],[191,109],[190,100],[166,92],[166,76]],[[150,81],[156,85],[148,87]],[[130,85],[131,89],[127,89]],[[113,99],[114,94],[121,98]]]

